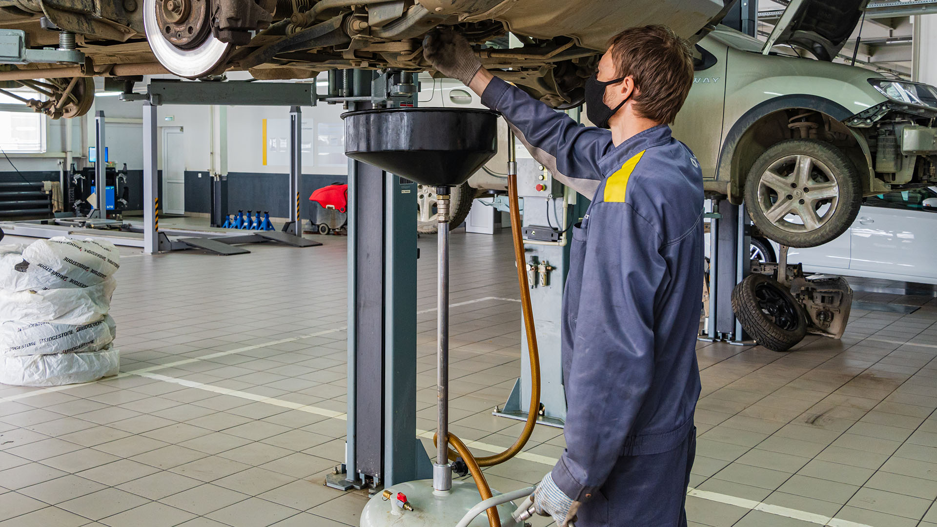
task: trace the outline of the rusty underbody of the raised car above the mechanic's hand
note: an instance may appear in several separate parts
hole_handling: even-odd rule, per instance
[[[83,53],[70,64],[22,60],[2,67],[0,81],[160,73],[204,79],[234,70],[282,80],[345,68],[424,71],[430,69],[425,34],[454,26],[486,68],[551,106],[567,107],[581,103],[582,86],[620,21],[667,23],[690,37],[721,8],[718,0],[665,0],[640,14],[626,1],[0,0],[0,27],[22,30],[22,48]]]

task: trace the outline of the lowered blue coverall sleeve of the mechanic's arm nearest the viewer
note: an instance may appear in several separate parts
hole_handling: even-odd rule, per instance
[[[658,230],[629,203],[593,203],[573,362],[566,380],[566,451],[559,489],[587,501],[632,434],[654,375],[654,306],[667,272]]]

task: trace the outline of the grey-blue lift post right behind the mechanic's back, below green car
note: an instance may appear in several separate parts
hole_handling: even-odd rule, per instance
[[[751,219],[745,205],[712,199],[709,218],[709,316],[700,340],[751,345],[732,310],[732,290],[751,272]]]

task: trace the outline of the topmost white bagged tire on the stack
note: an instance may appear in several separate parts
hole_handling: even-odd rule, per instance
[[[85,288],[109,279],[120,268],[120,253],[111,242],[56,236],[22,249],[22,261],[15,270],[29,279],[21,279],[17,291],[27,283],[34,290]],[[0,284],[4,281],[0,277]]]

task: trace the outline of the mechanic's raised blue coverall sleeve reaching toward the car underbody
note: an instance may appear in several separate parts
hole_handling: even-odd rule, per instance
[[[562,176],[561,183],[591,198],[602,180],[598,163],[611,144],[611,132],[584,127],[498,78],[485,88],[482,102],[504,115],[530,154]]]

